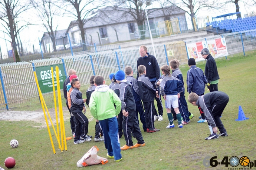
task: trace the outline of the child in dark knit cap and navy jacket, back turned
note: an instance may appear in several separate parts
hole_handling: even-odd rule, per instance
[[[187,91],[188,93],[196,93],[198,96],[204,95],[205,84],[207,83],[206,76],[202,69],[196,67],[196,61],[194,58],[188,59],[188,66],[190,69],[187,71]],[[207,122],[204,116],[204,112],[201,107],[198,106],[201,114],[201,119],[197,123]]]

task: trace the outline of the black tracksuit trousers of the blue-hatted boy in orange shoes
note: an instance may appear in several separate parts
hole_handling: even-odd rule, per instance
[[[132,142],[132,133],[134,134],[135,138],[137,139],[138,144],[145,143],[141,134],[141,129],[138,124],[138,119],[136,117],[135,111],[127,111],[128,116],[123,117],[123,131],[124,131],[124,138],[126,141],[127,146],[133,146]],[[133,129],[133,132],[131,133]]]

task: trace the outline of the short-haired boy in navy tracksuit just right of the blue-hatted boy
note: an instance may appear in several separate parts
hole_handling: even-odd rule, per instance
[[[126,76],[126,80],[130,81],[130,83],[132,84],[132,92],[133,92],[133,97],[136,103],[136,117],[138,119],[138,123],[139,123],[139,118],[138,118],[138,113],[140,114],[140,120],[141,123],[143,124],[143,130],[147,131],[147,125],[146,125],[146,120],[145,120],[145,112],[144,112],[144,108],[141,102],[141,96],[140,96],[140,90],[139,90],[139,86],[138,86],[138,82],[137,80],[132,76],[133,75],[133,70],[132,67],[128,66],[125,67],[125,74]],[[139,123],[140,124],[140,123]]]

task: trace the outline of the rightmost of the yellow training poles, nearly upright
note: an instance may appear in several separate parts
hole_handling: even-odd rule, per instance
[[[60,94],[60,81],[59,81],[59,67],[55,67],[56,71],[56,83],[57,83],[57,91],[58,91],[58,103],[59,103],[59,114],[60,114],[60,126],[62,126],[62,133],[64,135],[64,143],[65,143],[65,150],[67,150],[67,141],[66,141],[66,133],[65,133],[65,126],[64,126],[64,119],[63,119],[63,111],[62,111],[62,102],[61,102],[61,94]],[[63,136],[62,136],[63,137]],[[62,139],[62,150],[64,150],[63,146],[63,139]]]

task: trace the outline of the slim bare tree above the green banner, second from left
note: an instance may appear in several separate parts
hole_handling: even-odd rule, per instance
[[[37,16],[52,40],[53,51],[57,51],[55,38],[58,25],[54,19],[59,15],[60,10],[54,5],[56,2],[54,0],[32,0],[31,2],[37,11]]]

